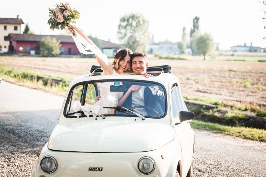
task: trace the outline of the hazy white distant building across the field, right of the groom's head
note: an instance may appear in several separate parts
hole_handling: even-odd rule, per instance
[[[162,54],[162,55],[179,55],[180,50],[177,47],[177,42],[158,42],[151,43],[147,47],[147,51],[149,54]]]

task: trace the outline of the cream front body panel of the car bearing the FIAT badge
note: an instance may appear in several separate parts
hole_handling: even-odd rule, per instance
[[[157,150],[137,153],[53,151],[49,150],[46,144],[39,157],[33,163],[31,177],[174,176],[178,161],[182,159],[181,150],[177,149],[178,146],[176,143],[175,141],[171,141]],[[57,169],[50,174],[45,173],[40,168],[40,160],[47,155],[57,160]],[[164,159],[161,155],[163,155]],[[149,175],[140,173],[137,168],[138,160],[145,156],[152,158],[155,162],[155,169]],[[102,171],[92,171],[91,168],[97,167],[102,168]]]

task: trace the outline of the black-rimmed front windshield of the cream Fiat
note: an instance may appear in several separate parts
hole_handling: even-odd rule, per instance
[[[148,118],[162,118],[166,110],[165,96],[164,86],[149,81],[80,83],[71,88],[64,115],[76,118],[96,117],[97,114],[136,117],[140,114]]]

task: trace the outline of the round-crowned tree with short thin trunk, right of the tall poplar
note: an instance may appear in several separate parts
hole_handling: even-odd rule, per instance
[[[210,52],[213,48],[213,40],[211,35],[208,33],[204,33],[204,35],[200,35],[196,40],[196,47],[199,54],[203,54],[203,58],[205,60],[205,55]]]

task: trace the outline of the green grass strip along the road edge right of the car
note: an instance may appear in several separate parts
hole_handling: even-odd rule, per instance
[[[230,127],[220,124],[193,120],[190,122],[192,128],[210,130],[216,133],[241,137],[243,139],[266,142],[266,131],[248,127]]]

